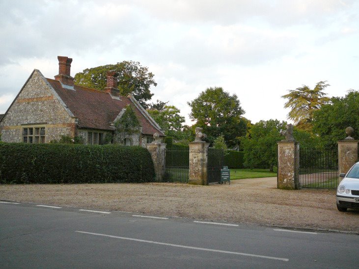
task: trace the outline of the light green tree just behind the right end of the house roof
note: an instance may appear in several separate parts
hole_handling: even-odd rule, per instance
[[[175,140],[184,139],[183,126],[185,117],[181,116],[180,110],[175,106],[164,106],[162,110],[147,109],[151,117],[165,130],[165,135]]]

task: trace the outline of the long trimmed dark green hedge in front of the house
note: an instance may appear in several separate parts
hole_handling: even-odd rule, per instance
[[[151,155],[139,146],[0,142],[0,184],[152,181]]]

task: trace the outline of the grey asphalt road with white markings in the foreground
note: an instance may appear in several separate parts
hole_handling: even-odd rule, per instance
[[[202,222],[0,201],[0,268],[358,268],[355,234]]]

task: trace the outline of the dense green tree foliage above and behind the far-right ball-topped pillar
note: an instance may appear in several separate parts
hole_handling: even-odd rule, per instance
[[[332,97],[331,103],[322,106],[313,115],[313,132],[318,134],[324,148],[334,149],[337,141],[346,137],[345,129],[354,128],[359,139],[359,92],[350,91],[345,97]]]

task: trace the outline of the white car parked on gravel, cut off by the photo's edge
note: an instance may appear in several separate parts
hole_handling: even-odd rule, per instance
[[[348,208],[359,209],[359,162],[347,174],[341,173],[339,177],[343,180],[336,189],[336,208],[342,212]]]

